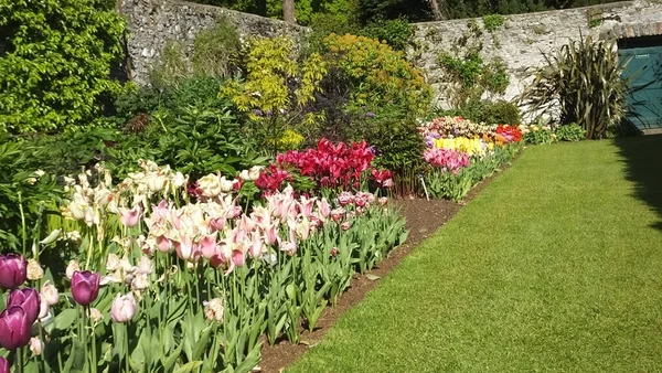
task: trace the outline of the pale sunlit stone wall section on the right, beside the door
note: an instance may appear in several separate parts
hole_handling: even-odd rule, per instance
[[[600,39],[623,39],[662,34],[662,4],[641,1],[616,2],[588,8],[505,15],[505,22],[494,32],[484,31],[482,20],[476,22],[485,61],[501,58],[510,75],[510,85],[501,98],[512,99],[522,92],[523,74],[530,66],[543,62],[541,52],[578,40],[580,34]],[[459,38],[468,31],[469,20],[417,23],[416,50],[409,51],[436,90],[436,104],[449,107],[445,95],[444,72],[438,57],[451,52]]]

